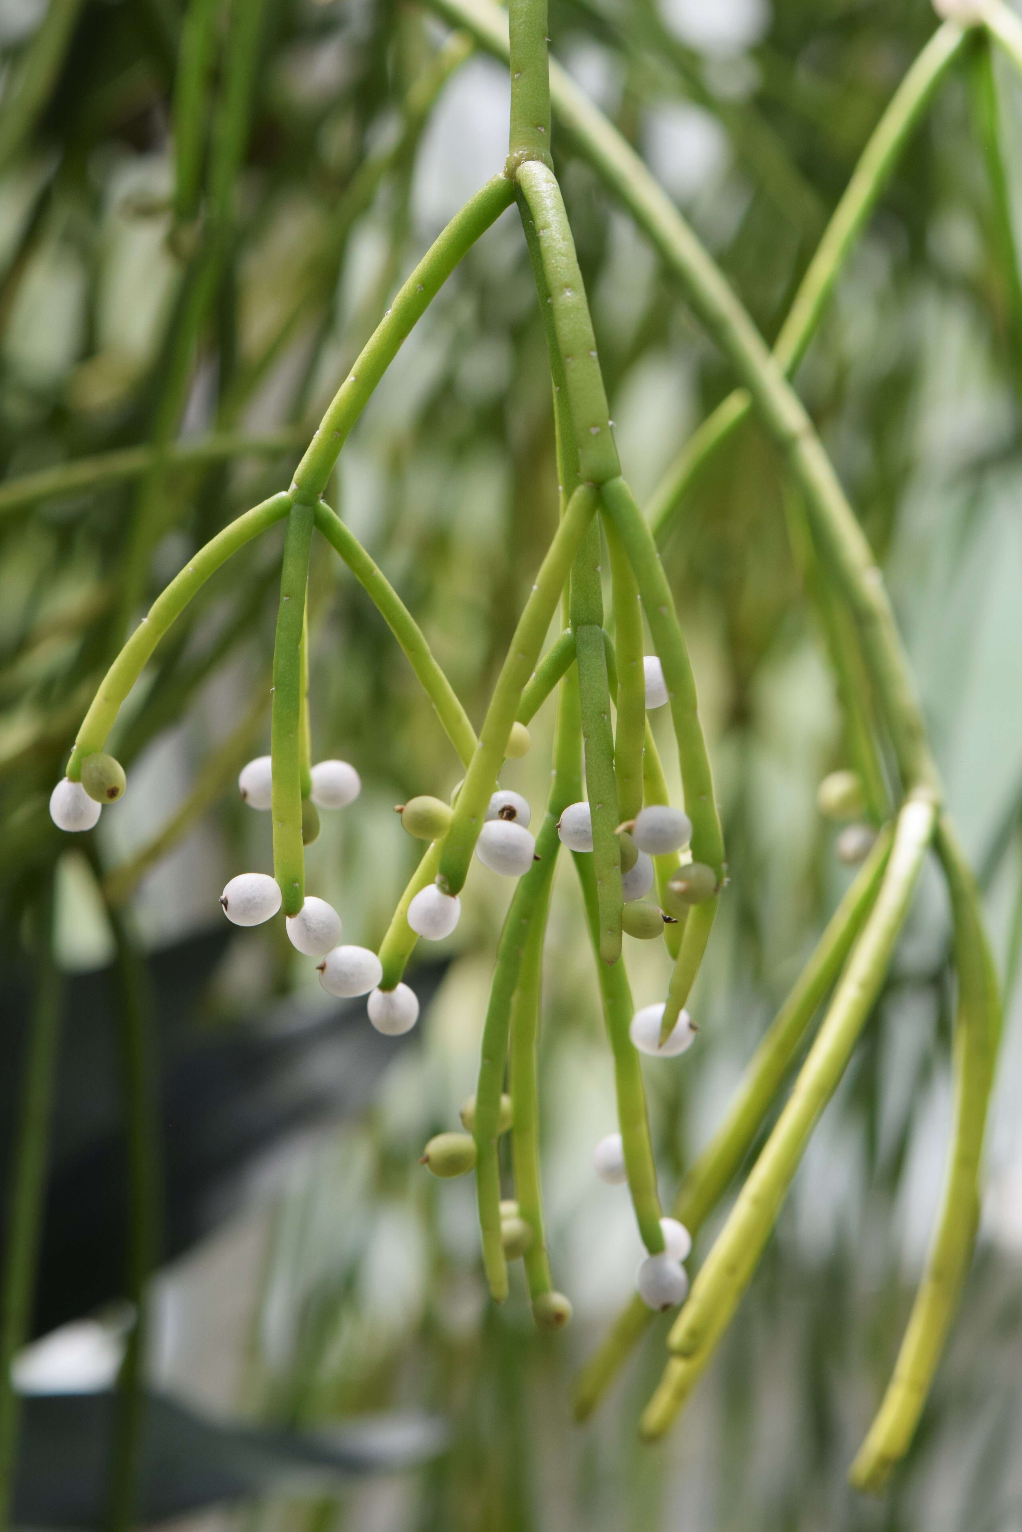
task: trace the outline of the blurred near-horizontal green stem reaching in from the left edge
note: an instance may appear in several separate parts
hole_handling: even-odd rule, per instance
[[[213,434],[198,441],[175,441],[167,447],[124,447],[101,452],[93,458],[74,458],[55,469],[25,473],[0,484],[0,522],[18,510],[28,510],[46,499],[81,495],[106,484],[138,478],[158,461],[165,469],[188,469],[205,463],[227,463],[231,458],[279,457],[305,440],[302,427],[274,430],[265,437]]]

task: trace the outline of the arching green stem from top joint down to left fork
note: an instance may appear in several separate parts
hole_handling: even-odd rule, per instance
[[[515,184],[493,176],[466,202],[400,288],[389,313],[363,346],[351,372],[339,388],[294,473],[294,489],[314,504],[325,493],[337,455],[365,409],[374,388],[397,355],[414,325],[426,313],[461,257],[500,218],[515,198]]]

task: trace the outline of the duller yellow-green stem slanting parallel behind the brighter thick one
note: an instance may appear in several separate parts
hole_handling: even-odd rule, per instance
[[[830,916],[823,936],[771,1022],[742,1077],[728,1112],[685,1175],[671,1213],[693,1238],[714,1210],[763,1126],[769,1105],[806,1036],[812,1017],[835,984],[863,922],[873,907],[890,853],[890,829],[881,830],[855,881]],[[575,1416],[585,1420],[654,1314],[634,1295],[617,1316],[599,1351],[587,1362],[575,1390]]]

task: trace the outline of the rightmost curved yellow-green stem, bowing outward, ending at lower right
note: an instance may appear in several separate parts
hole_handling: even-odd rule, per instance
[[[945,817],[936,849],[952,892],[955,921],[955,1112],[941,1213],[893,1377],[849,1471],[857,1489],[876,1491],[909,1451],[947,1331],[958,1308],[979,1223],[979,1170],[1001,1033],[997,976],[978,918],[973,875]]]

